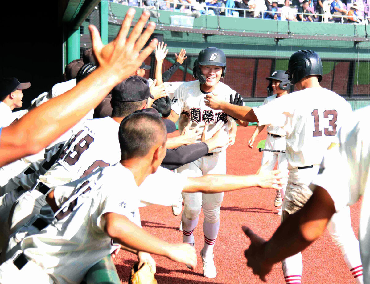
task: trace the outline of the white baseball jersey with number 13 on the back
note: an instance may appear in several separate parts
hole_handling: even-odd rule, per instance
[[[343,97],[323,88],[308,88],[253,107],[260,125],[286,132],[288,168],[320,164],[324,151],[352,113]]]

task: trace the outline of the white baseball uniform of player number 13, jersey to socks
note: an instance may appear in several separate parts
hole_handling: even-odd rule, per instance
[[[284,95],[266,105],[254,107],[259,124],[282,127],[286,131],[286,157],[289,177],[282,205],[282,220],[288,214],[298,211],[312,195],[309,184],[319,169],[325,150],[335,139],[339,128],[352,114],[349,103],[343,97],[324,88],[307,88]],[[353,230],[341,230],[350,226],[349,211],[340,220],[333,216],[327,228],[333,242],[342,250],[347,264],[361,260],[356,252],[358,241],[353,238]],[[338,222],[340,221],[340,222]],[[333,223],[332,223],[333,222]],[[344,235],[342,235],[344,234]],[[340,244],[345,244],[341,246]],[[351,248],[351,251],[346,249]],[[301,283],[302,254],[282,261],[286,283]],[[350,265],[349,269],[353,267]],[[356,278],[356,280],[358,280]]]

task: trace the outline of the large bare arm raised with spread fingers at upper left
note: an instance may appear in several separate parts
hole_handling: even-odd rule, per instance
[[[96,27],[90,25],[93,51],[99,67],[68,92],[31,110],[16,123],[2,130],[0,166],[45,148],[94,109],[115,85],[128,78],[157,45],[153,40],[141,49],[154,31],[149,12],[143,12],[128,38],[135,9],[130,8],[114,41],[103,45]]]

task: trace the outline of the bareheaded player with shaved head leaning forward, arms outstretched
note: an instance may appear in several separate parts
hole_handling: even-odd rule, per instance
[[[15,267],[19,270],[14,277],[26,277],[27,269],[22,271],[23,267],[14,261],[21,255],[23,265],[27,263],[35,269],[40,279],[50,277],[55,283],[79,283],[96,261],[115,249],[110,238],[131,252],[161,254],[194,268],[193,247],[166,244],[139,228],[138,194],[152,203],[170,205],[171,199],[182,191],[220,192],[280,184],[281,176],[276,175],[279,171],[261,170],[257,175],[245,177],[207,175],[190,178],[162,168],[157,174],[166,154],[166,130],[162,120],[151,114],[135,113],[122,120],[119,141],[120,163],[98,168],[48,194],[48,203],[55,212],[53,222],[48,225],[36,215],[24,226],[35,234],[23,231],[14,235],[14,238],[21,238],[20,250],[0,267],[0,277],[10,279]],[[125,181],[123,187],[122,179]],[[153,184],[158,182],[164,182],[164,187],[154,191]],[[169,247],[169,251],[164,247]],[[174,252],[170,253],[172,250]],[[79,263],[78,267],[76,263]],[[40,280],[40,283],[43,282]]]

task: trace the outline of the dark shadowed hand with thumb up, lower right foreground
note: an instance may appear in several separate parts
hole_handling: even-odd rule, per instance
[[[265,259],[265,245],[266,241],[257,236],[246,226],[242,227],[245,235],[250,239],[250,246],[244,251],[247,259],[247,266],[252,268],[253,274],[266,282],[266,275],[271,271],[272,264],[267,263]]]

